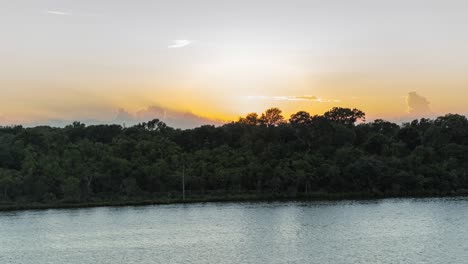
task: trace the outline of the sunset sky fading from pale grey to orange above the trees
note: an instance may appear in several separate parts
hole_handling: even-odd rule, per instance
[[[0,125],[468,113],[468,2],[0,0]]]

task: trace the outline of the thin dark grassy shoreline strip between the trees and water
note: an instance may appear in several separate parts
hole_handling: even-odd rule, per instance
[[[300,195],[286,194],[228,194],[228,195],[205,195],[181,198],[159,198],[159,199],[129,199],[109,201],[88,202],[54,202],[54,203],[4,203],[0,204],[0,212],[27,211],[27,210],[49,210],[49,209],[80,209],[96,207],[126,207],[126,206],[149,206],[170,204],[195,204],[195,203],[235,203],[235,202],[288,202],[288,201],[346,201],[346,200],[380,200],[388,198],[449,198],[468,197],[468,192],[456,193],[411,193],[411,194],[371,194],[371,193],[312,193]]]

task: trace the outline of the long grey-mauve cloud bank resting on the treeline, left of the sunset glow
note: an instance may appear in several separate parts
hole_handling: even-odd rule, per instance
[[[118,109],[117,116],[112,123],[132,126],[137,123],[159,119],[175,128],[194,128],[202,125],[222,125],[223,121],[202,117],[187,111],[177,111],[160,106],[150,106],[131,113],[123,108]]]

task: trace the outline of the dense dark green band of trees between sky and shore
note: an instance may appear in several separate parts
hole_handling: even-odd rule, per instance
[[[468,120],[402,126],[357,109],[281,110],[189,130],[160,120],[133,127],[0,128],[0,201],[85,202],[194,193],[459,192],[468,189]]]

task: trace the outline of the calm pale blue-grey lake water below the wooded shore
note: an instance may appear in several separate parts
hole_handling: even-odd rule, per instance
[[[0,263],[468,263],[468,199],[4,212]]]

